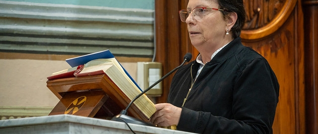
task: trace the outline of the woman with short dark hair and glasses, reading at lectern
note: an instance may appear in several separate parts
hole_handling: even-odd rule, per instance
[[[189,0],[180,10],[195,61],[174,75],[150,122],[205,134],[271,134],[279,84],[268,62],[241,44],[242,0]]]

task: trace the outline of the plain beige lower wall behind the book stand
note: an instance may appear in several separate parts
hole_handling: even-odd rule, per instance
[[[121,64],[136,79],[137,63]],[[70,66],[65,61],[0,59],[0,116],[34,113],[34,108],[49,114],[59,99],[46,87],[46,77],[66,68]],[[33,109],[25,111],[28,108]]]

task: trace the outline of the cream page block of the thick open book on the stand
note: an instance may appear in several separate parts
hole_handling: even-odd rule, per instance
[[[132,100],[141,93],[137,85],[126,75],[115,58],[96,59],[86,63],[75,72],[75,76],[106,74],[122,92]],[[149,119],[155,112],[155,104],[144,94],[134,104]]]

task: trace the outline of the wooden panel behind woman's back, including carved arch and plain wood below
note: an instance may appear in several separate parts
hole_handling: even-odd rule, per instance
[[[241,37],[245,46],[253,48],[268,60],[280,83],[274,134],[305,134],[304,29],[301,0],[273,1],[263,1],[264,5],[256,6],[260,8],[258,14],[247,15],[254,17],[250,20],[247,18],[247,25],[255,26],[248,29],[245,25]],[[255,4],[250,2],[245,1],[245,7],[246,4]],[[266,8],[266,2],[268,8],[274,7],[275,10],[261,12]],[[246,12],[248,13],[248,9]],[[260,17],[266,13],[272,20],[262,23],[265,20]],[[274,16],[269,17],[273,14]]]

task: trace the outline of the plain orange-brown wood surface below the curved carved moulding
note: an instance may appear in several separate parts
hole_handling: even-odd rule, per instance
[[[243,40],[245,46],[251,47],[266,58],[274,70],[279,84],[280,96],[273,125],[274,134],[297,134],[296,109],[299,87],[295,83],[298,77],[299,63],[297,52],[298,30],[294,28],[295,14],[287,19],[284,25],[273,34],[259,40]]]

